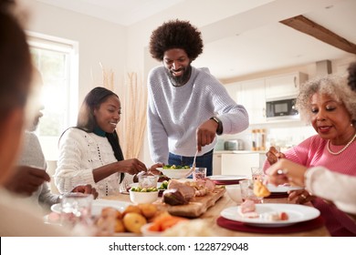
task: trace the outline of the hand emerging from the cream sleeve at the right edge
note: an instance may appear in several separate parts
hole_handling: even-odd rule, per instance
[[[274,185],[289,183],[291,185],[304,187],[304,174],[307,168],[282,158],[267,168],[267,182]]]

